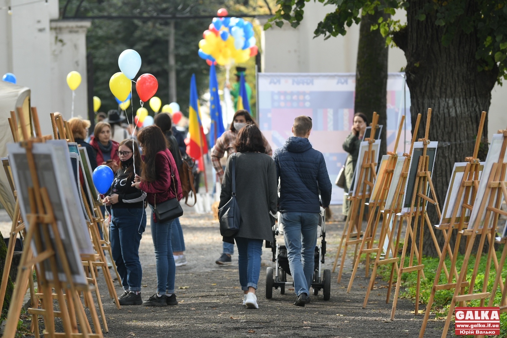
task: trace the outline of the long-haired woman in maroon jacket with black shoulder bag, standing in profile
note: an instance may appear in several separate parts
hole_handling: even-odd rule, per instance
[[[182,198],[182,185],[162,130],[155,125],[144,127],[137,134],[137,140],[144,154],[143,165],[141,176],[136,175],[132,186],[147,193],[147,200],[152,209],[151,230],[157,262],[157,292],[148,301],[144,301],[143,305],[174,306],[178,304],[174,294],[176,266],[171,245],[174,219],[159,221],[153,210],[157,203],[173,198],[179,201]]]

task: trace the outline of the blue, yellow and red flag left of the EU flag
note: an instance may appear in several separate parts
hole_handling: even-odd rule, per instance
[[[195,84],[195,74],[192,74],[192,80],[190,82],[189,134],[190,137],[187,145],[187,154],[189,154],[190,157],[199,160],[199,168],[203,169],[204,167],[201,156],[208,152],[208,145],[202,129],[199,99],[197,98],[197,86]]]

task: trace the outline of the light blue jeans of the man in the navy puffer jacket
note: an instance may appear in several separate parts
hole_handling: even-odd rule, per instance
[[[294,291],[310,294],[315,266],[318,213],[282,212],[283,237],[287,247],[288,264],[294,279]]]

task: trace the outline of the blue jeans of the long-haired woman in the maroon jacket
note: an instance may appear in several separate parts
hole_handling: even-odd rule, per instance
[[[153,213],[153,207],[150,205]],[[157,264],[157,292],[160,294],[174,293],[174,279],[176,276],[176,265],[172,255],[171,230],[174,219],[166,222],[160,220],[156,223],[151,217],[151,229],[153,246],[155,247],[155,260]]]

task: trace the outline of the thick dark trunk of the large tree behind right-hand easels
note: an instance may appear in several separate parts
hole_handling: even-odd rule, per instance
[[[432,108],[429,139],[439,141],[432,181],[443,205],[454,163],[473,155],[481,111],[488,111],[498,70],[477,70],[475,54],[479,40],[475,31],[469,34],[458,31],[450,45],[443,46],[444,30],[434,24],[436,16],[417,19],[426,3],[427,0],[410,2],[407,26],[393,38],[407,58],[412,121],[422,114],[418,138],[424,137],[427,108]],[[477,10],[470,0],[464,15]],[[413,128],[414,125],[412,131]],[[487,121],[483,135],[488,135]],[[435,208],[429,206],[428,214],[432,224],[438,224]],[[435,234],[442,247],[442,232],[436,230]],[[428,231],[424,232],[423,254],[437,256]]]

